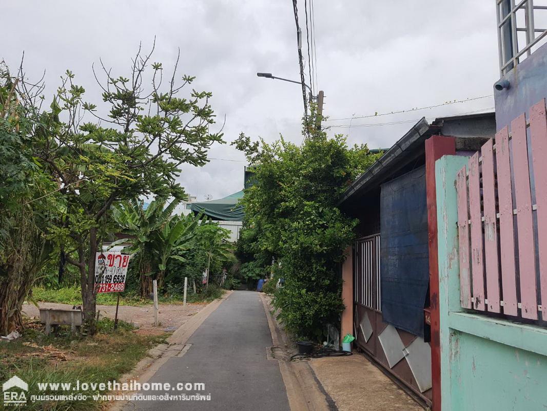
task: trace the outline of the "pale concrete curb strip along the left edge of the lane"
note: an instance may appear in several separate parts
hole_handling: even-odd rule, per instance
[[[146,383],[156,372],[158,372],[161,366],[163,366],[169,358],[182,357],[184,353],[190,349],[191,344],[186,344],[190,337],[207,317],[209,317],[224,300],[229,298],[232,292],[232,290],[226,290],[221,298],[213,300],[203,307],[203,309],[177,328],[174,333],[167,338],[167,344],[159,344],[148,350],[147,356],[141,359],[130,372],[122,375],[119,382],[126,383],[129,380],[136,380],[141,384]],[[106,404],[104,409],[108,411],[120,411],[129,403],[129,401],[118,401]]]

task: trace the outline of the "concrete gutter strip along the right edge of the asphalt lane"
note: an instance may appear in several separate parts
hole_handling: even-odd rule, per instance
[[[267,358],[277,361],[287,389],[291,411],[337,411],[336,404],[313,372],[308,360],[291,361],[294,353],[290,350],[286,334],[271,315],[270,307],[263,294],[260,299],[264,305],[273,346],[267,347]]]

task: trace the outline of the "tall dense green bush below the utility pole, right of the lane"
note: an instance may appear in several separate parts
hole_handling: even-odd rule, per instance
[[[236,141],[256,166],[242,201],[239,248],[266,264],[274,256],[284,278],[274,299],[281,321],[289,332],[319,340],[344,307],[339,269],[356,224],[336,204],[377,155],[366,145],[348,147],[341,135],[311,134],[301,146],[283,138],[257,146],[243,134]]]

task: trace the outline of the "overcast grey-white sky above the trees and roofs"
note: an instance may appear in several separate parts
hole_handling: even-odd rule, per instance
[[[317,64],[314,89],[324,90],[332,119],[374,115],[492,94],[498,79],[495,2],[460,0],[313,0]],[[306,81],[309,82],[304,0],[299,0]],[[265,0],[148,0],[5,2],[0,15],[0,59],[28,77],[46,70],[46,96],[71,69],[86,100],[101,104],[91,65],[128,75],[139,42],[153,60],[197,76],[196,89],[213,92],[212,106],[225,140],[240,132],[300,142],[302,94],[298,84],[258,78],[257,71],[299,79],[292,2]],[[309,23],[311,25],[311,22]],[[411,123],[493,107],[493,98],[435,109],[330,121],[351,143],[390,147]],[[381,125],[372,125],[381,124]],[[363,127],[365,125],[365,127]],[[229,144],[212,147],[202,168],[185,167],[180,181],[198,199],[242,189],[245,158]]]

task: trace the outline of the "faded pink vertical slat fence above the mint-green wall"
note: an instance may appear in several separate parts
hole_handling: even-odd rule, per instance
[[[546,321],[545,100],[486,142],[456,185],[462,307]]]

